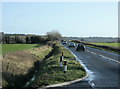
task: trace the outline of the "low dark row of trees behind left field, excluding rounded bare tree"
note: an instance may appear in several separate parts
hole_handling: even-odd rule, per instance
[[[0,43],[4,44],[11,44],[11,43],[46,43],[47,38],[45,36],[39,36],[39,35],[20,35],[19,34],[7,34],[4,36],[1,36]]]

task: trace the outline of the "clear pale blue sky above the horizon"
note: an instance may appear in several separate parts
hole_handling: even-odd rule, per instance
[[[2,31],[63,36],[117,37],[117,2],[3,2]]]

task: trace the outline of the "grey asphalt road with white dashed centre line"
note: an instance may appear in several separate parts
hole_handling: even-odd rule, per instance
[[[86,69],[89,77],[81,82],[63,86],[62,89],[120,89],[120,55],[86,47],[86,51],[68,48]],[[60,88],[59,88],[60,89]]]

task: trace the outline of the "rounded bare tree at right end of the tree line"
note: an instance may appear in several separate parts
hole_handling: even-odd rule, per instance
[[[62,35],[57,30],[47,32],[48,41],[60,40],[61,37]]]

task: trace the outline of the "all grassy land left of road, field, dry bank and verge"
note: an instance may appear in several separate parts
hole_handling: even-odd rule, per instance
[[[59,42],[53,48],[37,44],[6,44],[3,45],[4,58],[2,61],[3,86],[12,89],[23,89],[35,70],[37,75],[30,87],[44,87],[50,84],[62,83],[81,78],[86,75],[83,67],[75,57]],[[19,50],[19,51],[18,51]],[[59,66],[59,58],[64,53],[68,71],[63,73]],[[40,62],[39,66],[35,65]]]

